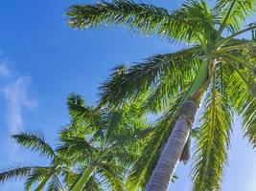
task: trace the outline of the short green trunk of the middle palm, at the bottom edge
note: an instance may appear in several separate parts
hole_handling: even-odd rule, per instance
[[[94,168],[95,166],[88,165],[87,168],[83,171],[81,178],[78,181],[76,181],[73,187],[71,188],[71,191],[81,191],[86,182],[90,179]]]

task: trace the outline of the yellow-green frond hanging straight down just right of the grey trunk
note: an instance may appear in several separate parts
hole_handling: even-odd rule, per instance
[[[192,176],[193,190],[221,190],[221,177],[227,159],[232,126],[232,110],[226,93],[227,77],[220,65],[213,74],[203,100],[200,129]],[[224,92],[223,92],[224,91]]]

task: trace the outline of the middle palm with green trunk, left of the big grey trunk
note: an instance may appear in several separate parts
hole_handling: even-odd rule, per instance
[[[84,105],[81,96],[69,96],[72,125],[61,131],[57,151],[74,166],[77,180],[70,181],[72,191],[88,190],[88,186],[93,190],[125,189],[124,174],[139,151],[135,136],[147,127],[143,117],[136,118],[137,104],[99,110]]]

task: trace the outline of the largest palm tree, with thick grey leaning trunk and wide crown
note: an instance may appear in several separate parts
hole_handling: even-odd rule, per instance
[[[176,53],[117,67],[102,87],[102,106],[118,106],[124,100],[146,96],[144,112],[164,112],[135,163],[128,180],[130,190],[146,184],[146,190],[168,188],[178,161],[189,159],[190,132],[198,107],[194,190],[221,189],[234,113],[243,120],[244,135],[256,145],[256,100],[241,68],[247,67],[244,60],[255,58],[251,53],[255,43],[238,38],[244,32],[255,32],[256,25],[242,29],[242,24],[255,13],[256,1],[214,3],[211,8],[205,0],[188,0],[178,10],[167,11],[114,0],[75,5],[66,12],[72,28],[127,26],[131,31],[185,45]]]

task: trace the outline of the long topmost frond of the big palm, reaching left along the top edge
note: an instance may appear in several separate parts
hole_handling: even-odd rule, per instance
[[[147,35],[157,34],[161,37],[172,37],[191,42],[198,39],[198,34],[201,31],[198,30],[199,22],[191,22],[194,15],[186,13],[186,6],[184,6],[184,10],[169,13],[165,9],[143,3],[136,4],[131,0],[114,0],[110,3],[104,1],[96,5],[76,5],[66,11],[66,14],[70,16],[68,23],[72,28],[125,25],[132,31],[143,32]],[[193,13],[198,13],[198,11],[193,11]]]

